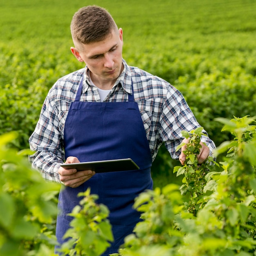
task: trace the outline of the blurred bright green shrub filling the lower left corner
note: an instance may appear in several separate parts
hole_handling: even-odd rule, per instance
[[[59,185],[31,170],[28,152],[6,148],[14,138],[0,136],[0,255],[51,255]]]

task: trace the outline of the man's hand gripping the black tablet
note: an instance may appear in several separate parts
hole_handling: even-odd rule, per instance
[[[80,161],[76,157],[67,157],[66,164],[79,163]],[[60,181],[65,186],[76,188],[89,180],[94,174],[94,171],[76,171],[76,169],[64,169],[60,167],[58,169]]]

